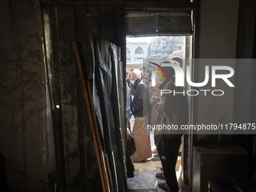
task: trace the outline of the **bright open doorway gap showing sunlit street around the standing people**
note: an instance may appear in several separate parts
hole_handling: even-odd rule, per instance
[[[192,35],[190,36],[148,36],[140,38],[126,37],[126,75],[133,69],[141,69],[145,66],[146,62],[157,60],[162,62],[164,60],[179,57],[183,59],[183,69],[185,70],[186,65],[190,65],[191,59],[191,41]],[[159,64],[159,63],[158,63]],[[148,87],[151,87],[151,71],[148,71],[142,75],[145,78],[145,84],[148,83]],[[186,87],[188,88],[188,87]],[[190,99],[189,99],[190,102]],[[150,118],[150,117],[148,117]],[[132,115],[130,119],[130,130],[133,131],[134,117]],[[164,179],[156,178],[157,172],[161,171],[161,162],[157,153],[156,146],[154,144],[154,130],[150,132],[151,138],[151,151],[152,157],[144,162],[136,163],[135,167],[135,178],[127,179],[128,190],[152,190],[157,191],[158,183],[165,182]],[[181,191],[188,190],[188,154],[189,154],[189,136],[185,135],[181,138],[181,147],[178,153],[178,159],[176,163],[176,175]],[[158,157],[157,157],[158,156]],[[147,181],[145,181],[147,178]]]

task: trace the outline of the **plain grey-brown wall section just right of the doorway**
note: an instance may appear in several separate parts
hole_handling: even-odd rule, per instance
[[[195,55],[199,59],[235,59],[236,58],[236,38],[237,21],[239,11],[239,1],[209,1],[200,0],[200,7],[196,21],[196,48]],[[194,66],[194,77],[196,82],[203,82],[205,78],[204,66],[215,65],[206,64]],[[231,64],[235,69],[235,62]],[[234,78],[231,78],[234,81]],[[204,87],[214,90],[211,84]],[[223,87],[224,84],[221,84]],[[226,88],[225,88],[226,89]],[[223,122],[233,120],[233,89],[225,90],[221,99],[218,96],[198,96],[194,98],[194,124],[195,123],[218,123],[221,117]],[[224,142],[232,141],[232,136],[224,136]],[[194,142],[217,142],[217,135],[197,135]]]

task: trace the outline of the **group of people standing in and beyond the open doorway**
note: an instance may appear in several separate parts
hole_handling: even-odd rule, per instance
[[[171,61],[182,67],[182,59],[173,58]],[[162,64],[160,63],[160,65]],[[188,120],[187,96],[179,94],[172,96],[165,94],[160,96],[160,90],[183,91],[184,87],[175,87],[175,71],[171,66],[163,66],[165,75],[152,75],[151,68],[143,66],[142,69],[126,70],[126,126],[129,135],[133,138],[136,148],[128,154],[127,177],[133,177],[136,162],[146,162],[157,152],[151,160],[160,160],[162,172],[155,176],[166,180],[166,183],[158,184],[162,190],[177,192],[178,181],[175,165],[178,158],[178,150],[181,145],[181,136],[168,130],[166,133],[154,133],[156,149],[151,151],[150,130],[147,125],[157,124],[184,124]],[[152,81],[154,77],[154,84]],[[131,115],[134,116],[133,129],[130,127]]]

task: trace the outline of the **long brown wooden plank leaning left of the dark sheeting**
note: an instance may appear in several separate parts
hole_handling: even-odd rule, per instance
[[[78,70],[81,76],[81,83],[84,90],[84,98],[87,105],[87,111],[90,120],[90,126],[93,133],[93,142],[96,150],[97,161],[99,165],[99,173],[102,181],[102,188],[104,192],[111,192],[111,180],[108,172],[108,165],[105,159],[105,154],[102,148],[102,139],[99,132],[99,126],[96,118],[96,111],[93,105],[93,94],[90,87],[90,81],[87,78],[84,66],[84,56],[81,48],[81,43],[74,41],[75,55],[78,62]]]

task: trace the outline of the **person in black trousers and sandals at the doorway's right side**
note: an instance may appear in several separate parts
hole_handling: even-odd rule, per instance
[[[182,60],[181,60],[182,61]],[[168,63],[168,61],[167,61]],[[174,62],[179,65],[178,62]],[[171,66],[163,67],[167,78],[160,85],[160,90],[175,90],[176,93],[182,93],[184,87],[175,87],[175,71]],[[164,77],[165,78],[165,77]],[[163,94],[160,102],[157,103],[157,124],[162,125],[181,125],[187,124],[188,121],[188,103],[187,96],[183,94]],[[181,145],[181,134],[175,133],[174,130],[160,130],[157,136],[161,138],[161,162],[163,172],[166,178],[166,184],[158,184],[158,186],[171,192],[178,192],[178,181],[176,178],[175,165],[178,158],[178,149]]]

